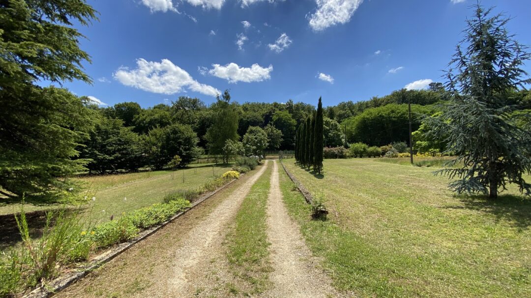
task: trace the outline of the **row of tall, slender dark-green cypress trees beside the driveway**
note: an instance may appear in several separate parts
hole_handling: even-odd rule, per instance
[[[319,174],[323,170],[323,104],[321,98],[306,121],[299,125],[295,135],[295,160]]]

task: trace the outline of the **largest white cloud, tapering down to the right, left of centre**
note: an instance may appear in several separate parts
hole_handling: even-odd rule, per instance
[[[119,68],[113,75],[120,83],[148,92],[175,94],[187,90],[205,95],[216,96],[221,92],[215,87],[201,84],[181,67],[168,59],[151,62],[145,59],[136,60],[136,69]]]

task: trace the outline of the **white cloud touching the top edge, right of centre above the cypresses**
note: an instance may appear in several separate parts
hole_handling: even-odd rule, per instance
[[[310,15],[309,23],[315,31],[322,31],[337,24],[345,24],[363,0],[315,0],[317,10]]]

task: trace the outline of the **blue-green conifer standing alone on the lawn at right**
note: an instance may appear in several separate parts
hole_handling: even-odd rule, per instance
[[[516,113],[509,99],[516,87],[531,83],[521,68],[531,55],[506,28],[509,19],[492,15],[479,3],[467,19],[465,38],[457,45],[446,73],[449,102],[439,117],[425,120],[435,137],[446,137],[456,168],[437,173],[456,180],[450,188],[498,197],[499,188],[515,183],[531,195],[523,178],[531,173],[529,113]],[[518,119],[520,118],[520,119]]]

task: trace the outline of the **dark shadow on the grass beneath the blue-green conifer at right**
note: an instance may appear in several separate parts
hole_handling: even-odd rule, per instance
[[[464,206],[448,208],[467,208],[475,211],[491,213],[496,221],[506,220],[516,227],[527,229],[531,226],[531,198],[515,195],[501,195],[497,199],[489,199],[483,195],[456,196]]]

